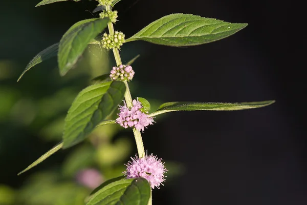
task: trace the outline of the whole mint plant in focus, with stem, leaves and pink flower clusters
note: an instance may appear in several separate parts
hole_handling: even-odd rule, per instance
[[[68,0],[43,0],[36,6]],[[74,0],[78,2],[80,0]],[[105,181],[85,199],[86,205],[94,204],[152,204],[151,190],[160,189],[165,181],[167,167],[161,158],[145,153],[141,132],[155,124],[155,116],[173,111],[230,111],[260,108],[274,103],[274,100],[251,103],[199,103],[169,102],[150,112],[150,103],[142,97],[132,97],[128,83],[137,75],[132,59],[123,65],[120,48],[123,44],[143,40],[153,44],[173,47],[202,45],[226,38],[247,26],[228,23],[214,18],[192,14],[170,14],[152,22],[141,31],[125,39],[125,34],[114,30],[118,12],[114,6],[121,0],[96,0],[102,11],[99,18],[81,20],[64,33],[59,43],[38,53],[27,65],[20,78],[35,65],[57,56],[61,76],[66,75],[77,63],[88,45],[100,45],[106,51],[112,50],[116,65],[108,74],[97,76],[93,85],[84,88],[76,96],[64,122],[62,141],[34,161],[24,171],[33,168],[60,149],[70,148],[89,136],[96,127],[118,124],[134,133],[138,153],[126,163],[123,176]],[[104,32],[104,30],[108,32]],[[104,32],[104,33],[103,33]],[[112,119],[112,113],[117,117]]]

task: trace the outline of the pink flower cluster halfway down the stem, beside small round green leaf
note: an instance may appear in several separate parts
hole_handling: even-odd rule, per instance
[[[146,128],[146,126],[152,125],[153,119],[140,111],[143,107],[139,100],[134,99],[132,104],[133,106],[131,109],[127,108],[125,102],[124,106],[120,106],[120,113],[118,114],[119,117],[116,119],[116,122],[124,128],[135,127],[139,131],[144,131],[144,127]]]

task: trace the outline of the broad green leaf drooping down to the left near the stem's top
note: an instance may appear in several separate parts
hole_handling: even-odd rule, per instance
[[[65,75],[77,62],[87,45],[101,33],[109,18],[92,18],[74,24],[61,38],[58,52],[60,75]]]

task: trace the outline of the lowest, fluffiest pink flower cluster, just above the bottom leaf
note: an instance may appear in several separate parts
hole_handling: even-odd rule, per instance
[[[160,189],[160,184],[163,185],[162,182],[165,181],[164,173],[167,172],[162,159],[152,154],[143,158],[131,157],[131,159],[132,161],[126,165],[127,170],[123,172],[127,179],[143,177],[147,179],[152,189],[155,187]]]

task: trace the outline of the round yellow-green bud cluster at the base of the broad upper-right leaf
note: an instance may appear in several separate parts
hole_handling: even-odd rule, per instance
[[[125,34],[115,31],[114,35],[103,34],[102,47],[106,49],[120,48],[125,43]]]

